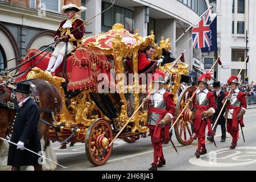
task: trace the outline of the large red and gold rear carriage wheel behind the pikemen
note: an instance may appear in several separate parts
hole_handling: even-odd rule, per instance
[[[180,96],[179,100],[176,104],[176,113],[175,118],[178,117],[180,112],[184,109],[185,105],[188,103],[188,98],[192,97],[193,92],[195,92],[196,88],[195,86],[189,86],[188,88],[185,88]],[[180,144],[183,144],[184,146],[187,146],[193,142],[195,139],[195,136],[193,137],[192,128],[193,122],[191,121],[191,115],[192,111],[187,109],[184,111],[183,116],[180,117],[179,121],[177,121],[174,130],[175,135]]]

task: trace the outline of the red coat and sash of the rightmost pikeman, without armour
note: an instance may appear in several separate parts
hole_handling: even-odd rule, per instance
[[[228,96],[229,92],[226,92],[225,93],[225,96]],[[243,118],[240,119],[240,121],[238,121],[237,119],[237,115],[240,113],[242,107],[247,109],[247,102],[246,102],[246,98],[245,98],[245,94],[241,91],[238,92],[238,95],[237,95],[237,100],[238,101],[241,101],[241,104],[240,106],[233,106],[233,105],[230,105],[230,104],[227,104],[226,105],[226,109],[234,109],[233,111],[233,118],[232,118],[232,130],[233,131],[238,131],[238,123],[240,123],[241,127],[244,127],[245,125],[243,124]],[[229,133],[231,131],[228,131]]]

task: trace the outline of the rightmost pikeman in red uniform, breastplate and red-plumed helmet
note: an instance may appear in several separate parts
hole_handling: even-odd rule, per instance
[[[230,85],[230,89],[232,89],[231,96],[229,96],[229,92],[226,92],[226,99],[228,99],[228,104],[226,105],[226,129],[228,133],[232,136],[232,145],[230,149],[236,148],[237,140],[238,140],[238,131],[240,123],[241,127],[245,127],[243,125],[243,115],[246,112],[247,103],[245,94],[238,89],[238,77],[231,76],[228,80],[228,84]]]

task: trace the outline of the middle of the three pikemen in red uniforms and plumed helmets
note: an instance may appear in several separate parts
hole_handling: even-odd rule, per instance
[[[193,135],[197,136],[197,150],[196,157],[200,158],[200,155],[207,154],[207,148],[205,147],[205,128],[208,125],[208,136],[213,137],[212,126],[210,125],[210,116],[215,113],[216,102],[212,92],[207,89],[208,81],[210,81],[210,73],[204,73],[199,77],[197,86],[199,90],[196,92],[196,96],[191,101],[190,108],[193,110],[194,129]]]

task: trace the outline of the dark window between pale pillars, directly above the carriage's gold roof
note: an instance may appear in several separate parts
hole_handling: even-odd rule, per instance
[[[106,2],[102,2],[102,10],[107,9],[111,5]],[[120,6],[115,6],[102,14],[102,32],[111,30],[115,23],[121,23],[125,26],[125,29],[134,32],[134,12],[125,9]]]

